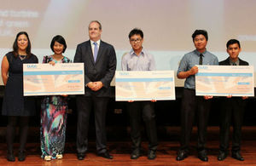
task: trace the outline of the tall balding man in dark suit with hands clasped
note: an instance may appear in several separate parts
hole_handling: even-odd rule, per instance
[[[88,149],[90,111],[95,114],[96,151],[98,156],[112,159],[107,151],[106,112],[110,96],[110,82],[116,69],[116,55],[113,46],[102,42],[102,25],[93,20],[89,24],[90,40],[80,43],[74,62],[84,63],[85,94],[77,96],[78,159],[83,160]]]

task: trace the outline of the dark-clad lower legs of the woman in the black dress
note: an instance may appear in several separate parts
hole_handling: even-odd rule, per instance
[[[20,119],[20,148],[19,151],[24,151],[26,146],[26,138],[28,131],[28,122],[29,117],[17,117],[17,116],[8,116],[8,125],[6,131],[6,141],[7,141],[7,150],[13,152],[13,144],[15,140],[15,128],[16,123]]]

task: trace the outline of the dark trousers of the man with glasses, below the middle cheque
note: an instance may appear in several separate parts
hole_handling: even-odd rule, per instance
[[[148,135],[148,150],[156,151],[157,134],[154,114],[154,103],[151,101],[134,101],[127,103],[128,113],[131,124],[132,149],[139,149],[142,142],[141,118],[146,126]]]

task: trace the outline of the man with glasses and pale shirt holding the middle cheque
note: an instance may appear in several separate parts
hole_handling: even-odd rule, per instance
[[[143,49],[143,31],[137,28],[131,30],[129,34],[129,39],[132,49],[129,53],[124,54],[122,58],[122,70],[154,71],[154,57],[151,54],[148,54],[148,52],[145,49]],[[137,159],[141,155],[141,117],[143,117],[143,121],[145,123],[146,131],[148,134],[148,159],[154,159],[156,157],[157,135],[156,124],[154,119],[154,102],[155,100],[130,100],[127,103],[127,110],[129,113],[131,124],[131,159]]]

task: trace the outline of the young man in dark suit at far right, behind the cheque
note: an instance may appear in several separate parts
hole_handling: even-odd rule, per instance
[[[248,66],[249,64],[238,58],[241,52],[241,46],[238,40],[230,39],[226,44],[227,53],[230,57],[226,60],[219,62],[220,66]],[[230,134],[230,121],[231,117],[233,120],[233,142],[232,142],[232,155],[231,157],[237,160],[243,161],[241,157],[240,146],[241,146],[241,124],[243,119],[245,99],[247,97],[232,97],[227,96],[222,99],[221,103],[221,123],[220,123],[220,145],[218,160],[224,160],[228,155],[229,149],[229,134]]]

